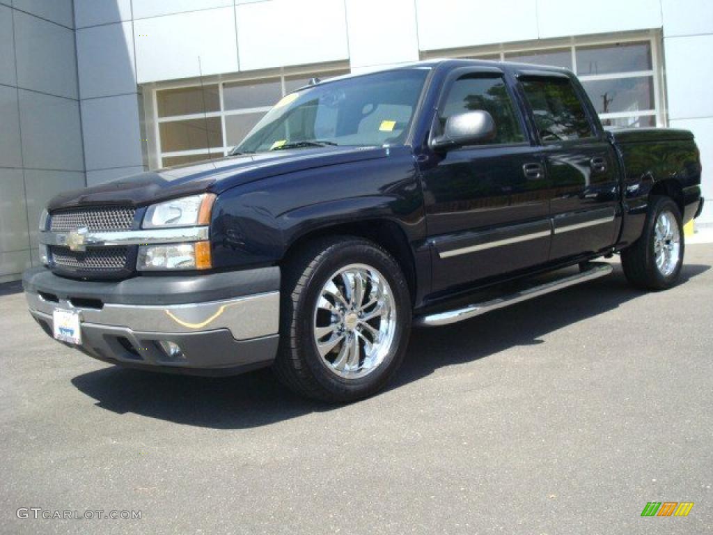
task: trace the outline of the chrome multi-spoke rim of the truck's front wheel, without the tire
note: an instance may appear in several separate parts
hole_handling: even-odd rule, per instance
[[[396,333],[389,282],[369,265],[352,264],[329,277],[314,308],[314,343],[327,368],[346,379],[376,370]]]

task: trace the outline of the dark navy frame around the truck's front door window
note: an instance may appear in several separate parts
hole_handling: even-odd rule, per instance
[[[466,66],[454,68],[441,85],[441,89],[438,92],[438,98],[436,99],[436,108],[434,109],[433,121],[431,121],[431,128],[429,133],[428,145],[431,145],[431,141],[441,135],[441,125],[440,117],[443,105],[446,103],[448,95],[453,88],[453,84],[460,80],[464,76],[471,74],[481,75],[483,78],[500,78],[505,85],[508,97],[510,97],[513,113],[515,114],[515,121],[520,126],[520,131],[523,134],[523,141],[516,141],[513,143],[478,143],[476,145],[465,145],[453,148],[453,151],[463,151],[463,150],[473,150],[473,149],[488,149],[488,148],[501,148],[501,147],[523,147],[532,146],[533,139],[531,138],[530,129],[525,121],[524,113],[520,99],[518,95],[513,91],[511,78],[508,78],[508,74],[499,67],[488,67],[488,66]]]

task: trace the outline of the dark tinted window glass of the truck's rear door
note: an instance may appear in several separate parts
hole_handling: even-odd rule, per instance
[[[569,80],[531,78],[523,81],[543,141],[566,141],[594,136],[580,99]]]

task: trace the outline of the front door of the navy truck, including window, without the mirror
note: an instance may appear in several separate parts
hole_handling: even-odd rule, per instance
[[[485,110],[497,135],[421,164],[434,292],[546,263],[550,187],[504,75],[461,68],[444,84],[434,129],[456,113]]]

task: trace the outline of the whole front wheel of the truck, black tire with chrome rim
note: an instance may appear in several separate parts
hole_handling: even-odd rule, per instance
[[[353,402],[378,392],[401,365],[411,297],[379,245],[322,238],[284,266],[280,315],[277,377],[305,397]]]

